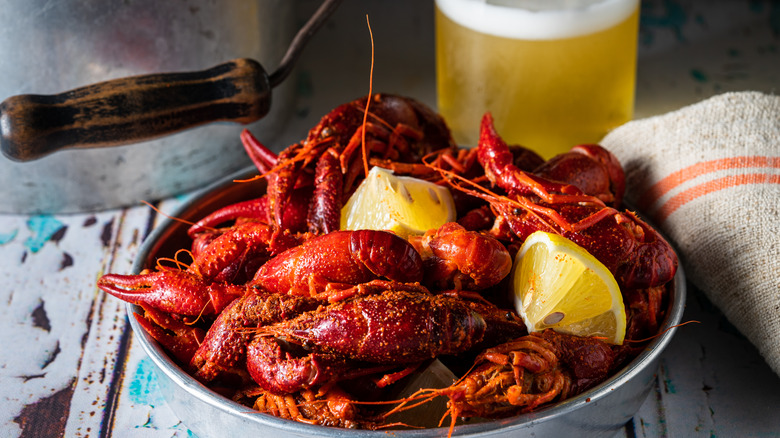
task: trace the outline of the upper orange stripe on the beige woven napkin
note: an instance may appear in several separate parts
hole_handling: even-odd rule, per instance
[[[640,210],[648,211],[649,208],[658,201],[661,196],[680,184],[704,175],[705,173],[715,172],[724,169],[741,169],[748,167],[772,167],[780,168],[780,157],[730,157],[719,160],[704,161],[670,173],[668,176],[653,184],[642,196],[639,197],[637,207]]]

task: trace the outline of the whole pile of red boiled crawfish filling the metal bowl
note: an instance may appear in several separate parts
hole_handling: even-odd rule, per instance
[[[459,418],[517,415],[581,393],[658,334],[676,255],[620,210],[623,170],[604,148],[544,161],[507,145],[490,114],[480,128],[476,148],[458,148],[431,109],[374,94],[337,107],[278,155],[244,131],[265,193],[192,225],[189,265],[107,274],[98,286],[140,306],[140,325],[204,385],[301,422],[396,426],[391,412],[443,396],[452,431]],[[339,230],[372,166],[446,185],[457,221],[407,238]],[[623,345],[527,332],[507,277],[537,230],[569,238],[614,274]],[[450,386],[393,399],[436,359],[457,376]]]

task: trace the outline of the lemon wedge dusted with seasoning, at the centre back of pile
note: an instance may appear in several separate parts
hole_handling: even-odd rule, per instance
[[[389,230],[402,237],[454,220],[449,189],[377,166],[341,209],[342,230]]]

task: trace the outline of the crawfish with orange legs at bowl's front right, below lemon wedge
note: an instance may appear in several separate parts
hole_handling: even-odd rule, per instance
[[[546,330],[482,351],[474,367],[454,384],[422,389],[390,413],[409,402],[417,405],[445,396],[451,435],[458,417],[504,418],[530,412],[603,381],[614,365],[609,344]]]

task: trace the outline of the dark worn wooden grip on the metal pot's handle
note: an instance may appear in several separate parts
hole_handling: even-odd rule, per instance
[[[263,67],[235,59],[208,70],[9,97],[0,104],[0,149],[12,160],[30,161],[61,149],[135,143],[210,122],[251,123],[270,106]]]

